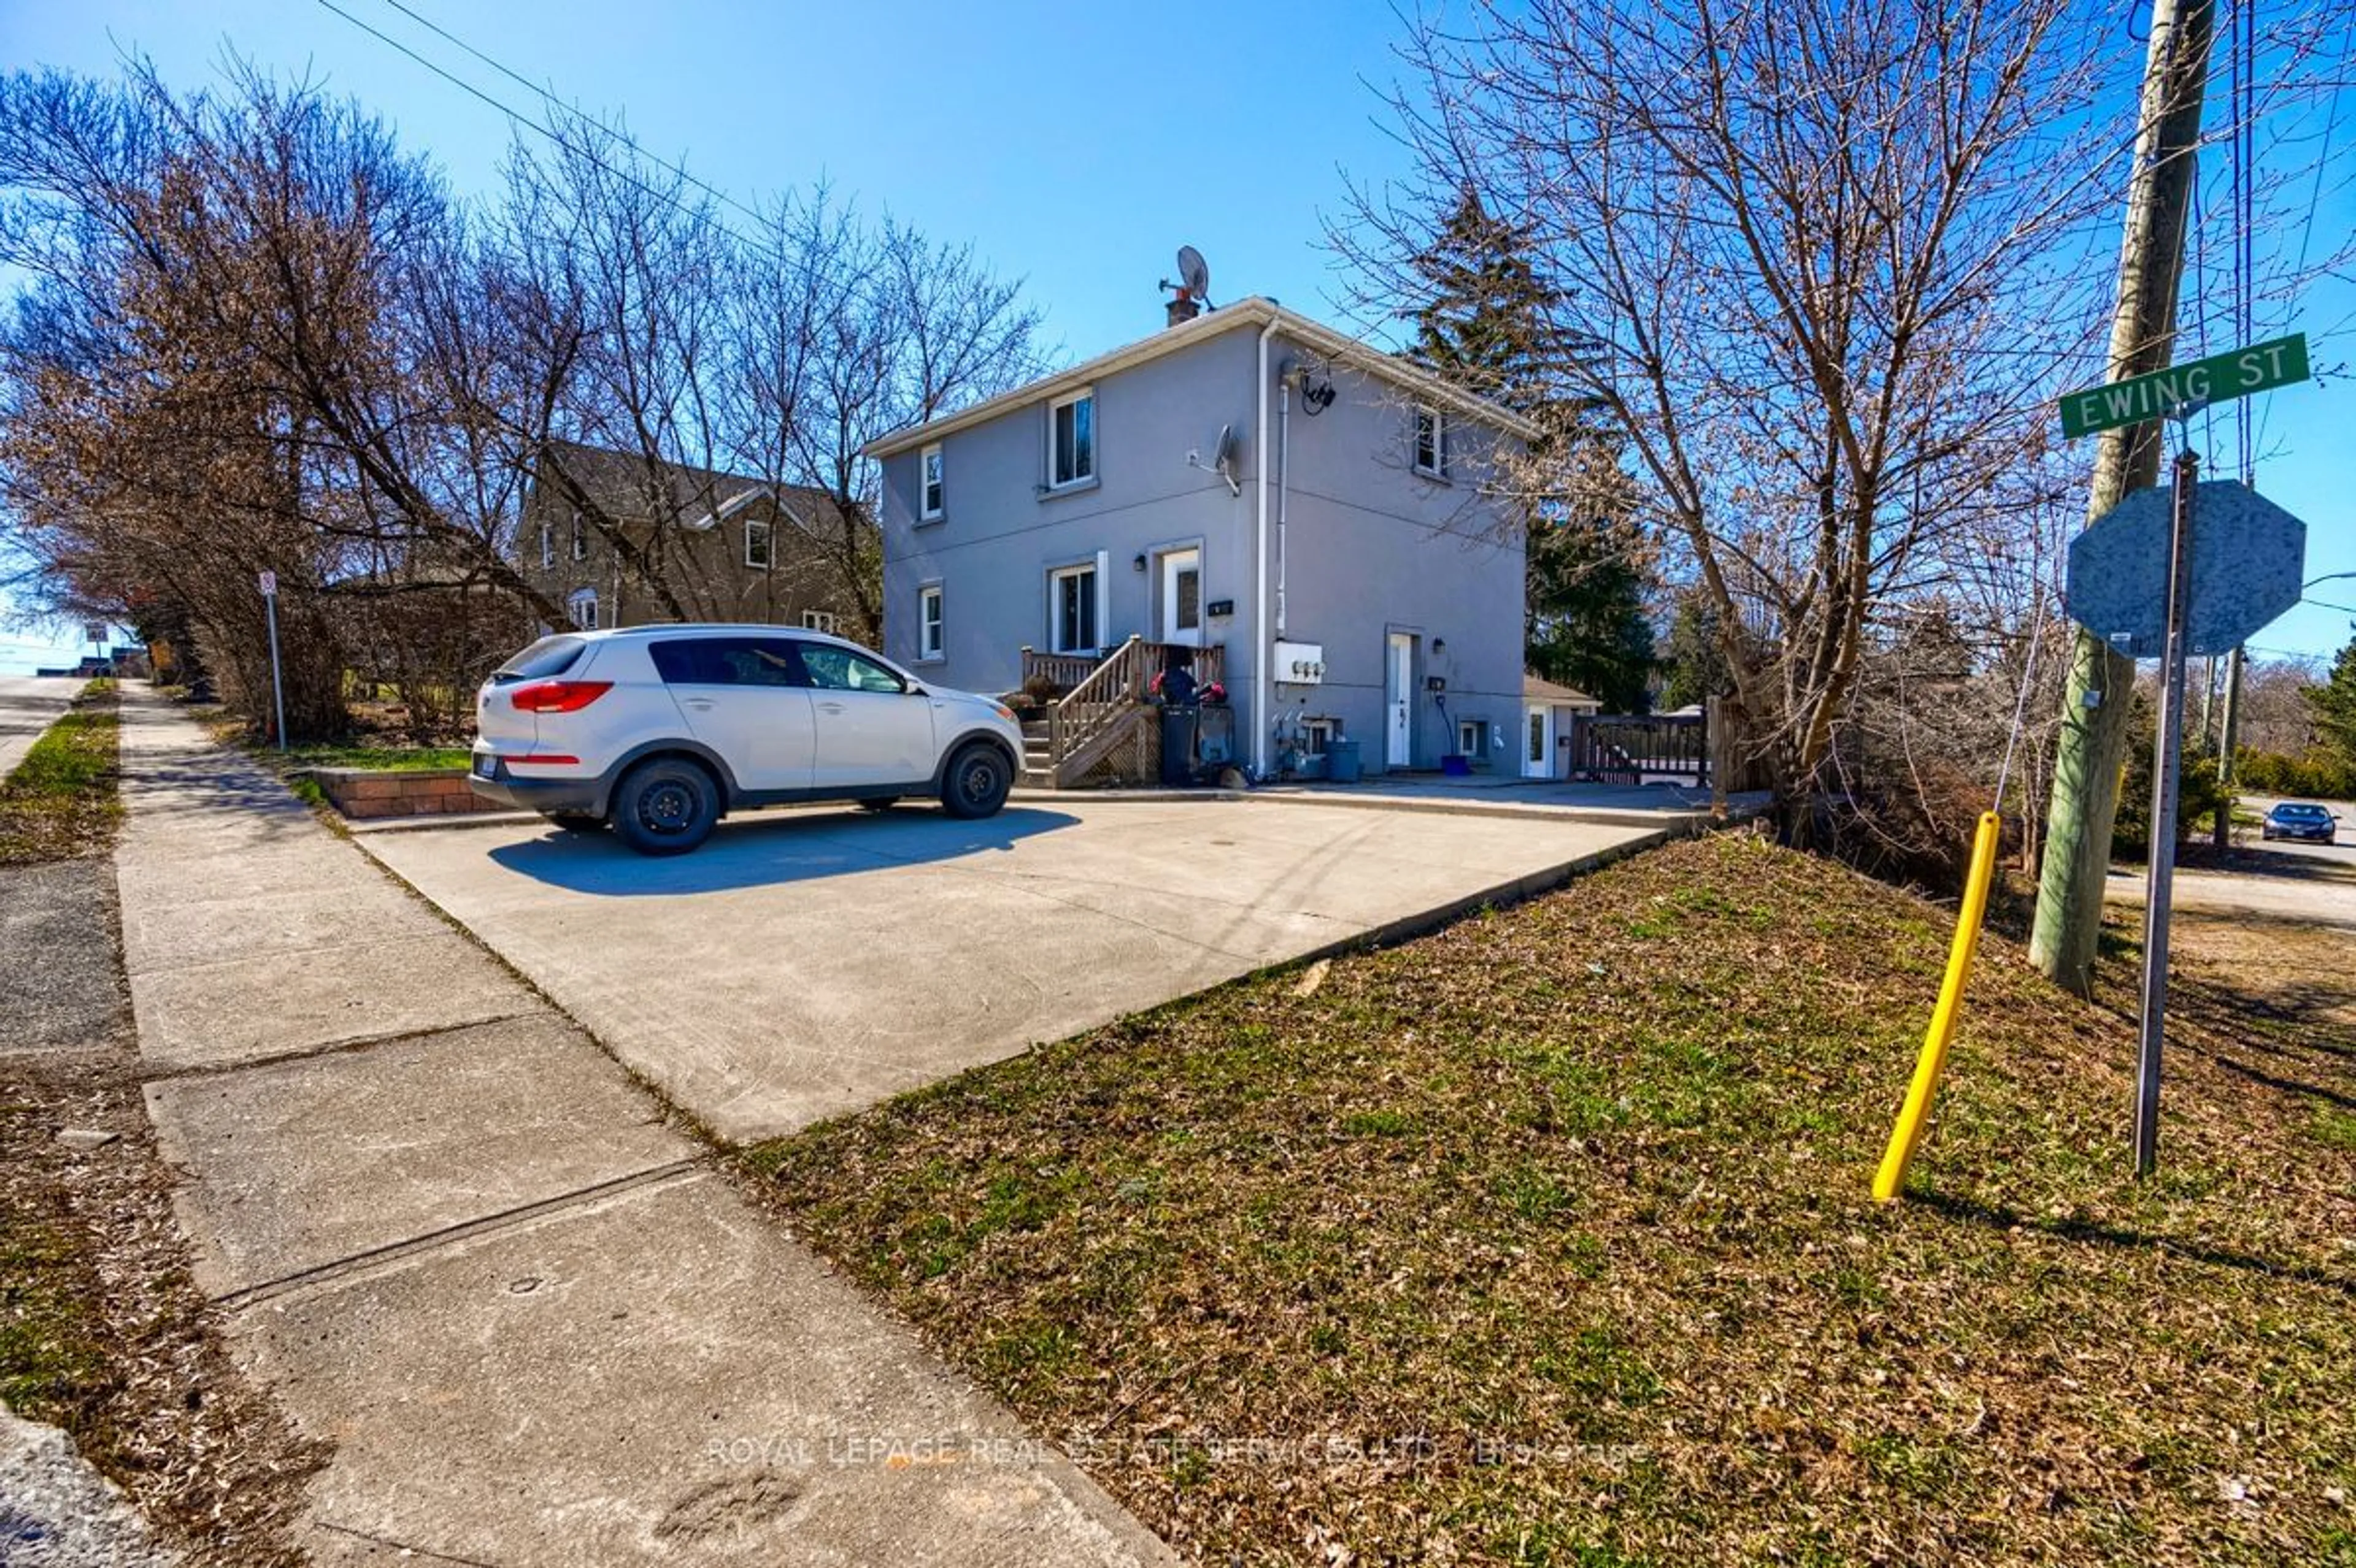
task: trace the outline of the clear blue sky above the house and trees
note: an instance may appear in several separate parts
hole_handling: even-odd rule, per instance
[[[523,87],[384,0],[335,2],[490,97],[530,106]],[[1213,299],[1275,294],[1338,315],[1324,221],[1348,202],[1345,177],[1402,165],[1376,92],[1397,73],[1388,0],[405,2],[558,97],[627,113],[648,151],[740,200],[825,179],[935,238],[973,240],[1025,278],[1072,356],[1162,323],[1154,285],[1173,275],[1183,242],[1209,257]],[[9,66],[106,75],[139,49],[167,80],[196,85],[224,45],[360,99],[441,160],[457,191],[492,184],[504,115],[316,0],[0,0]],[[2356,141],[2356,115],[2344,141]],[[2325,214],[2337,233],[2351,221],[2344,200]],[[2288,325],[2335,327],[2356,313],[2349,294],[2309,299]],[[2262,323],[2262,334],[2283,325]],[[2356,358],[2344,341],[2318,341],[2316,360]],[[2356,572],[2349,400],[2344,381],[2304,386],[2274,393],[2266,414],[2269,445],[2285,450],[2259,485],[2307,518],[2309,577]],[[2219,443],[2231,450],[2222,428]],[[2318,596],[2332,589],[2356,605],[2356,579]],[[2349,619],[2302,607],[2259,645],[2330,652]],[[24,626],[0,626],[14,636]],[[0,640],[0,669],[21,657]]]

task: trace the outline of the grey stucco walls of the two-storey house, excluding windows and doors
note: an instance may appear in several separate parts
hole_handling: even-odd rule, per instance
[[[1284,553],[1284,633],[1322,643],[1326,680],[1275,687],[1277,713],[1338,718],[1369,770],[1385,760],[1385,633],[1416,638],[1411,692],[1414,765],[1435,768],[1454,746],[1456,718],[1503,732],[1496,768],[1510,768],[1522,711],[1522,544],[1496,527],[1482,497],[1491,440],[1463,431],[1454,483],[1411,473],[1411,403],[1390,381],[1329,367],[1282,334],[1270,363],[1298,358],[1331,379],[1322,414],[1291,412]],[[1263,457],[1256,419],[1258,330],[1246,323],[1192,348],[1133,365],[1096,384],[1098,483],[1041,494],[1048,405],[1013,410],[942,440],[945,516],[916,523],[919,452],[884,461],[884,652],[926,678],[966,690],[1008,690],[1023,645],[1048,645],[1048,572],[1103,553],[1105,647],[1157,636],[1162,549],[1199,544],[1204,603],[1235,600],[1209,622],[1225,647],[1237,739],[1249,756],[1253,659],[1277,636],[1277,494],[1270,485],[1270,636],[1253,636],[1256,485]],[[1270,447],[1277,447],[1275,396]],[[1242,494],[1206,469],[1220,426],[1235,426]],[[1133,567],[1147,556],[1150,570]],[[945,657],[916,659],[916,593],[942,586]],[[1442,647],[1444,645],[1444,647]],[[1447,680],[1447,723],[1423,692]]]

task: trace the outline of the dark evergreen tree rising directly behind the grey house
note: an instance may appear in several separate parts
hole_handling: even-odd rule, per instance
[[[1619,443],[1553,391],[1550,367],[1576,344],[1560,337],[1562,294],[1538,275],[1531,254],[1527,233],[1465,191],[1416,257],[1430,297],[1411,313],[1409,358],[1538,424],[1531,443],[1538,483],[1524,509],[1529,666],[1597,697],[1607,711],[1637,713],[1654,636],[1644,614],[1652,579],[1635,558],[1628,523],[1630,483]]]

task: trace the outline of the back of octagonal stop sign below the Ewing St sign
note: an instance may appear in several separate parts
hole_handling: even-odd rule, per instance
[[[2236,480],[2193,487],[2186,652],[2241,647],[2299,603],[2307,525]],[[2168,647],[2172,490],[2137,490],[2069,546],[2069,617],[2130,659]]]

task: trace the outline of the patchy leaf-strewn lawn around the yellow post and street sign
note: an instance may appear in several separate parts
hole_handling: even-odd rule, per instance
[[[2356,1563],[2344,949],[2186,942],[2135,1184],[2132,954],[1991,935],[1875,1205],[1951,921],[1680,843],[742,1165],[1204,1563]]]

